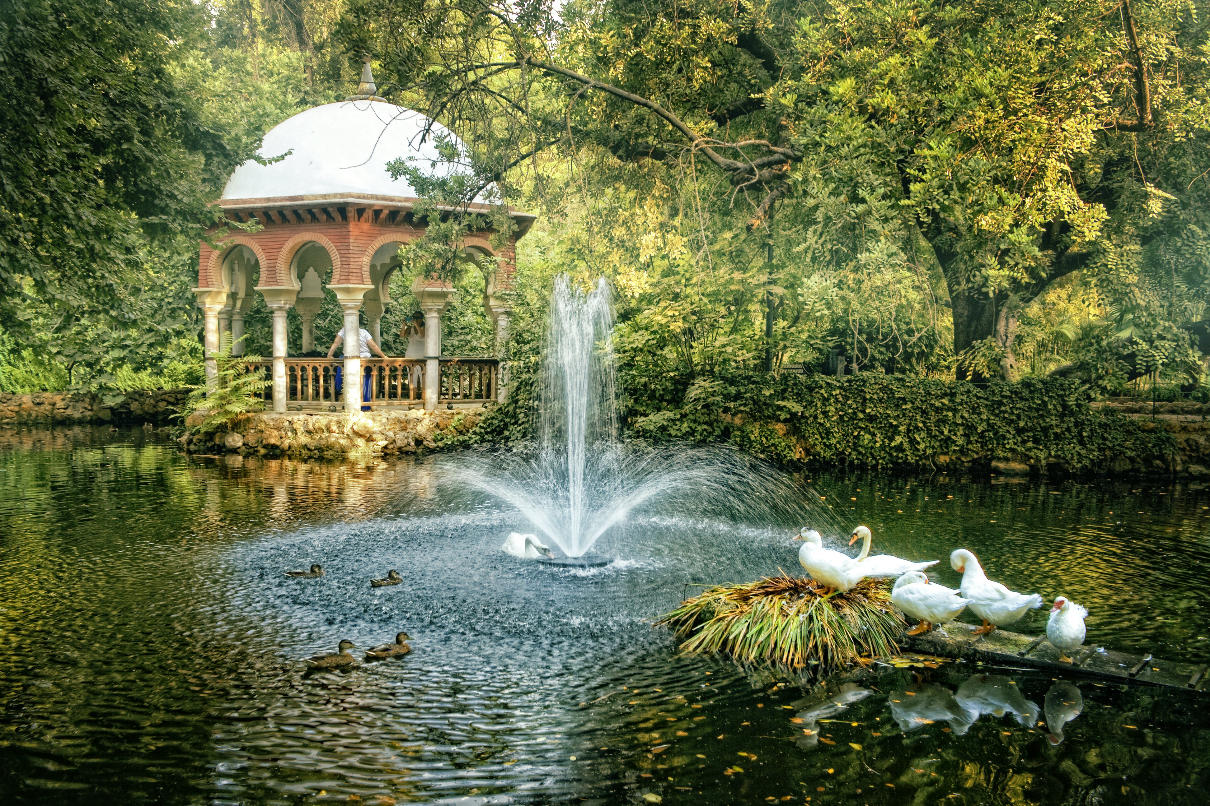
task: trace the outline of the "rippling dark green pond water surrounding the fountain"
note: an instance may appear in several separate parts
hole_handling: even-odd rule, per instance
[[[695,586],[797,572],[797,524],[649,512],[607,538],[613,564],[549,568],[501,553],[524,523],[442,489],[438,462],[0,433],[0,802],[1208,800],[1208,695],[1072,677],[1082,713],[1055,746],[1038,723],[1071,695],[1051,674],[944,663],[812,686],[680,657],[650,619]],[[830,537],[864,522],[875,551],[941,559],[953,586],[966,546],[1016,590],[1085,604],[1090,642],[1210,662],[1205,489],[800,482]],[[312,562],[327,575],[282,574]],[[371,588],[390,568],[403,585]],[[405,659],[304,673],[341,638],[399,630]]]

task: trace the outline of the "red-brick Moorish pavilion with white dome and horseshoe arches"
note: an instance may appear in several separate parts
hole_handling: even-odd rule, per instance
[[[315,353],[315,317],[325,289],[345,311],[346,346],[358,344],[362,315],[381,343],[380,321],[391,305],[388,280],[401,265],[397,253],[426,226],[413,215],[415,189],[403,178],[393,179],[387,163],[410,160],[425,169],[436,166],[440,174],[453,167],[443,162],[434,135],[445,135],[461,149],[440,123],[375,92],[367,63],[357,95],[299,112],[271,129],[260,149],[264,162],[240,166],[219,201],[230,221],[257,219],[263,228],[224,234],[218,249],[201,243],[195,291],[206,314],[207,373],[215,377],[213,356],[224,332],[235,340],[232,352],[242,352],[243,318],[255,295],[261,295],[273,315],[272,360],[265,363],[272,376],[273,411],[433,410],[480,405],[505,394],[499,353],[508,331],[515,239],[535,219],[520,211],[511,211],[515,230],[505,248],[492,249],[490,232],[473,232],[461,249],[485,274],[483,303],[495,326],[494,356],[442,354],[442,314],[454,288],[434,278],[419,278],[411,286],[425,313],[424,358],[365,359],[356,348],[344,359],[292,356],[292,349],[295,355]],[[287,156],[275,160],[281,155]],[[482,199],[468,205],[469,211],[489,209]],[[301,319],[301,344],[288,343],[292,307]],[[368,382],[345,383],[339,390],[340,375],[363,378],[363,372]],[[369,394],[363,400],[365,387]]]

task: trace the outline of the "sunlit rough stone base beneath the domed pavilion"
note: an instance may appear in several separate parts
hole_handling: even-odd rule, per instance
[[[390,456],[442,447],[442,440],[478,425],[483,408],[375,411],[357,414],[258,412],[218,434],[186,433],[191,453],[330,457]],[[195,427],[200,418],[186,421]]]

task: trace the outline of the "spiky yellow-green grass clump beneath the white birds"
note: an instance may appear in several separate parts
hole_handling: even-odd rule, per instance
[[[681,651],[725,654],[744,662],[791,668],[818,663],[828,672],[868,657],[898,654],[905,624],[891,604],[891,586],[864,579],[824,597],[807,576],[766,576],[720,585],[681,602],[656,624],[685,638]]]

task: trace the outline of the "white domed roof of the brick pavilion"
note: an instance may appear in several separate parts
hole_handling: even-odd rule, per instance
[[[426,126],[432,127],[427,137]],[[288,157],[267,166],[252,160],[243,163],[227,180],[223,198],[332,193],[415,198],[416,190],[405,178],[392,179],[387,172],[392,160],[411,157],[409,164],[438,176],[466,170],[442,158],[433,141],[437,134],[465,150],[444,126],[403,106],[367,99],[316,106],[270,129],[257,152],[272,160],[289,151]]]

